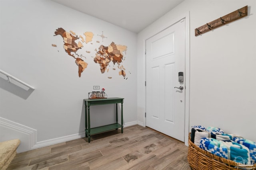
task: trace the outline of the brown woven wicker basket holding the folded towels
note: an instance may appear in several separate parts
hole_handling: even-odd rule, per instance
[[[188,163],[192,170],[238,170],[237,163],[196,146],[188,136]],[[256,164],[251,169],[255,170]]]

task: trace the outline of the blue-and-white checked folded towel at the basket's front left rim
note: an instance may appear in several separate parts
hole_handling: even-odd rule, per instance
[[[200,140],[199,147],[212,154],[228,159],[228,149],[220,145],[220,141],[212,138],[203,138]]]

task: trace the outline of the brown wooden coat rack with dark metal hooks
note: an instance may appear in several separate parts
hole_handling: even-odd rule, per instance
[[[218,18],[217,20],[211,21],[209,23],[206,23],[205,25],[202,25],[201,27],[196,28],[195,36],[198,36],[202,33],[206,33],[208,31],[211,31],[211,30],[218,28],[222,25],[225,25],[227,23],[233,22],[235,20],[238,20],[240,18],[247,16],[247,9],[248,9],[248,6],[245,6],[245,7],[240,8],[234,12],[231,12],[230,14],[222,16],[222,17]]]

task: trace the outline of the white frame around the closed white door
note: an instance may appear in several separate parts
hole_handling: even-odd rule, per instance
[[[164,29],[174,25],[176,22],[185,19],[185,122],[184,122],[184,144],[188,146],[188,134],[189,128],[189,113],[190,113],[190,15],[189,12],[175,18],[174,20],[163,25],[160,29],[156,29],[156,32],[152,32],[151,36],[144,39],[144,49],[146,49],[146,40],[153,37],[154,35],[160,33]],[[146,80],[146,54],[144,54],[145,59],[145,80]],[[146,110],[146,86],[145,86],[145,110]],[[146,117],[144,117],[143,125],[146,127]]]

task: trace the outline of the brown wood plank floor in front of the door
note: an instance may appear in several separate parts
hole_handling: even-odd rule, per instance
[[[18,153],[7,170],[190,170],[188,147],[134,125]]]

